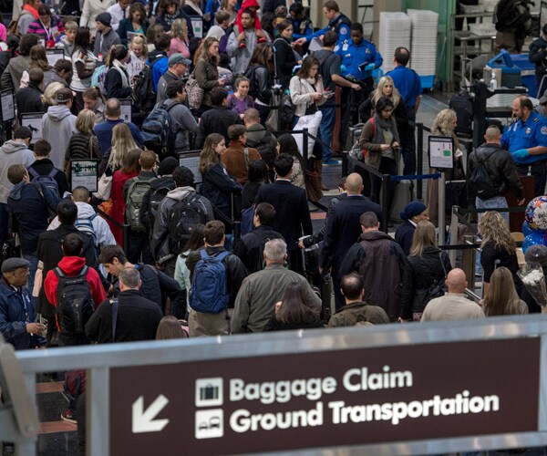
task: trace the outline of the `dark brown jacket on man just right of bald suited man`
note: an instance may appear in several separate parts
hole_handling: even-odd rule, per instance
[[[407,257],[400,246],[380,231],[362,233],[360,242],[346,254],[340,267],[340,276],[356,272],[365,278],[363,299],[373,306],[382,307],[391,321],[402,312],[403,275]]]

